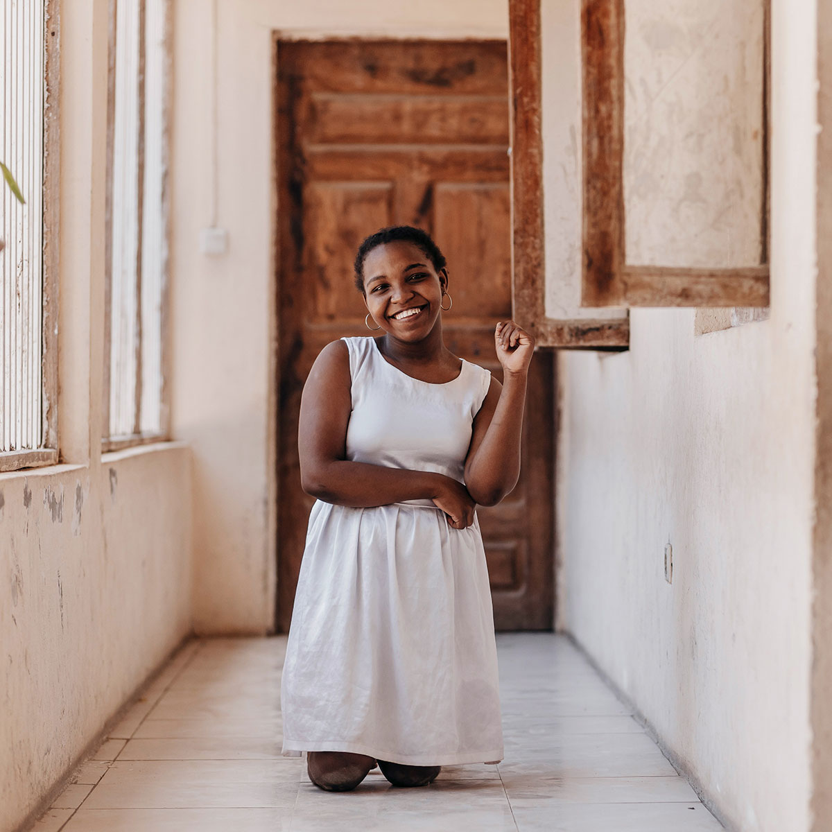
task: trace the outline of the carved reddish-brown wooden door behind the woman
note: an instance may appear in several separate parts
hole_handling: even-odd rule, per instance
[[[278,627],[289,629],[313,498],[300,488],[298,414],[324,344],[367,335],[355,251],[384,225],[428,230],[448,259],[448,348],[501,378],[511,316],[504,42],[280,42]],[[532,361],[522,474],[478,508],[500,630],[552,627],[552,354]]]

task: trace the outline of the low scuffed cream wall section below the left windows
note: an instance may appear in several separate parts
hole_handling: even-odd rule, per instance
[[[35,809],[191,631],[191,458],[0,474],[0,830]]]

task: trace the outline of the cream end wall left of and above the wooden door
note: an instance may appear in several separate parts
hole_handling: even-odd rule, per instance
[[[274,34],[505,38],[508,5],[220,0],[215,117],[211,5],[174,3],[171,417],[174,435],[194,451],[196,630],[265,633],[274,626],[280,536]],[[200,230],[214,224],[228,231],[228,250],[209,258],[199,250]]]

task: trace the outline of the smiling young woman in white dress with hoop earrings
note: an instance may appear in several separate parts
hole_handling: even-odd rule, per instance
[[[300,404],[310,513],[286,647],[285,755],[354,789],[503,759],[477,503],[515,486],[532,338],[497,324],[503,384],[443,342],[445,258],[422,230],[369,236],[356,285],[378,335],[327,344]],[[373,323],[370,323],[372,319]]]

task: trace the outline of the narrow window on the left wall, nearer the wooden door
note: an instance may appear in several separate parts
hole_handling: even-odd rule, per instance
[[[166,0],[111,0],[102,448],[167,433]]]

